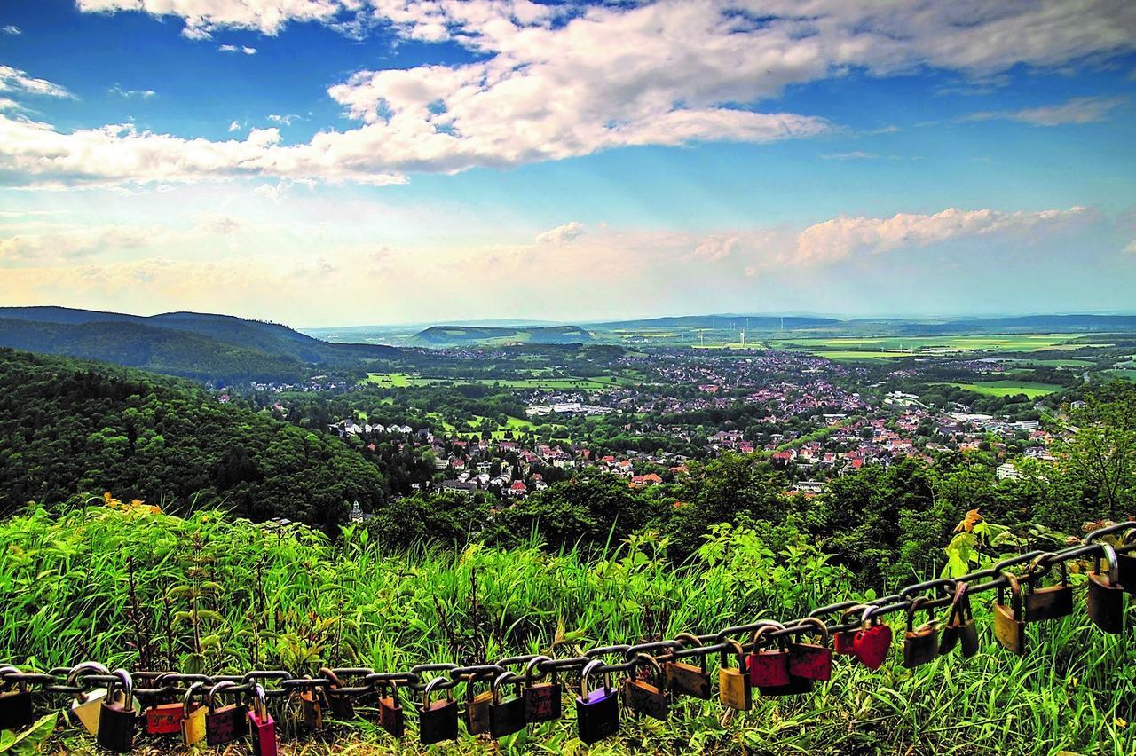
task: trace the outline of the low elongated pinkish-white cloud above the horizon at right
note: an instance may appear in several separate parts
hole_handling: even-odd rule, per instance
[[[992,234],[1027,236],[1047,233],[1088,216],[1086,208],[1005,212],[947,208],[934,215],[901,212],[891,218],[840,216],[805,228],[791,258],[795,263],[824,263],[854,254],[878,254],[903,247],[922,247],[951,240]]]

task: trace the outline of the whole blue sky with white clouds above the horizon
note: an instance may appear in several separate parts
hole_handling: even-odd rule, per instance
[[[9,0],[0,305],[1136,311],[1130,0]]]

